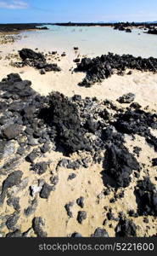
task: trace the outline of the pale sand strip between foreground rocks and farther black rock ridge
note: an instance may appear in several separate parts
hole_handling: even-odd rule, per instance
[[[101,84],[94,84],[91,88],[83,88],[78,83],[84,79],[85,74],[71,72],[76,68],[74,60],[80,55],[79,50],[75,53],[74,49],[71,49],[70,53],[64,57],[61,57],[59,53],[59,61],[55,60],[56,57],[50,55],[51,61],[49,62],[57,63],[62,71],[60,73],[46,73],[42,76],[33,67],[21,67],[20,69],[11,67],[9,64],[11,61],[17,61],[16,56],[20,48],[16,48],[16,52],[13,49],[14,44],[9,44],[9,49],[3,45],[1,47],[3,59],[1,60],[0,79],[6,77],[8,73],[20,73],[20,77],[22,79],[30,79],[32,88],[43,96],[47,96],[54,90],[63,93],[65,96],[74,96],[76,94],[81,95],[83,98],[96,96],[99,100],[109,99],[116,101],[121,95],[132,92],[136,94],[136,101],[142,104],[143,107],[157,108],[155,98],[157,94],[157,74],[141,73],[135,70],[132,75],[119,76],[115,74]],[[6,55],[12,54],[16,56],[6,60]]]

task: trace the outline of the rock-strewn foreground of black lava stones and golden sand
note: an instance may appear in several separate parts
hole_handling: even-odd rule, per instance
[[[0,92],[1,236],[156,234],[156,111],[41,96],[15,73]]]

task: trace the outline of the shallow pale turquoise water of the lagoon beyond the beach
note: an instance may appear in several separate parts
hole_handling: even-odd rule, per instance
[[[49,30],[24,32],[21,47],[70,52],[78,46],[82,55],[102,55],[109,51],[116,54],[132,54],[157,57],[157,36],[134,29],[132,33],[120,32],[112,27],[100,26],[48,26]],[[140,33],[140,35],[138,34]]]

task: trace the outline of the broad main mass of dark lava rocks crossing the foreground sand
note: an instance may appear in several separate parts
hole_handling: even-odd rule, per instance
[[[17,152],[24,154],[25,147],[41,144],[40,148],[31,150],[25,157],[25,160],[31,162],[31,170],[40,175],[46,172],[47,163],[34,162],[38,156],[45,154],[50,148],[50,143],[53,143],[56,150],[62,150],[66,155],[84,150],[92,154],[94,161],[104,161],[104,172],[112,177],[116,186],[126,187],[131,182],[132,170],[138,170],[139,165],[123,145],[124,134],[143,136],[148,143],[156,147],[157,138],[151,135],[149,127],[156,128],[157,115],[144,112],[135,103],[132,103],[125,113],[116,111],[113,122],[106,107],[117,109],[112,104],[109,105],[109,102],[104,102],[104,110],[98,112],[97,108],[95,109],[97,100],[94,98],[81,100],[80,96],[74,96],[69,99],[58,92],[42,97],[31,89],[31,82],[22,81],[17,74],[10,74],[7,79],[3,79],[0,89],[3,90],[5,99],[1,111],[8,109],[8,113],[5,112],[0,119],[3,125],[2,154],[8,140],[18,140],[21,135],[25,135],[27,142],[21,144]],[[8,103],[8,96],[13,102]],[[129,98],[130,102],[130,96],[122,98]],[[95,112],[99,119],[94,118]],[[10,119],[13,120],[11,124]],[[94,134],[97,139],[91,141],[87,138],[88,133]],[[104,149],[106,153],[102,159],[99,152]],[[76,170],[80,166],[87,167],[88,160],[63,159],[59,166]]]

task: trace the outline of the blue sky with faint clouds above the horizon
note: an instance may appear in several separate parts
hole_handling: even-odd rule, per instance
[[[157,0],[0,0],[0,23],[157,20]]]

